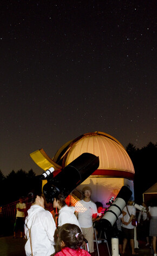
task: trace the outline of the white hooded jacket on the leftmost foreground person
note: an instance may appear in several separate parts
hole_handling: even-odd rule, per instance
[[[31,256],[30,237],[32,253],[34,256],[50,256],[55,252],[54,233],[56,225],[53,216],[39,205],[32,205],[25,218],[24,232],[27,237],[25,253]]]

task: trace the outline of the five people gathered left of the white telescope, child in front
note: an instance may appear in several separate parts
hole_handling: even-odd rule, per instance
[[[16,239],[18,228],[21,231],[21,238],[23,237],[24,227],[27,256],[89,256],[94,253],[93,221],[97,217],[97,208],[90,200],[91,188],[84,187],[82,192],[84,198],[76,203],[75,208],[66,204],[63,194],[58,194],[54,198],[53,207],[58,209],[57,227],[51,212],[44,209],[42,194],[33,195],[28,211],[22,203],[22,198],[19,199],[16,205],[14,238]]]

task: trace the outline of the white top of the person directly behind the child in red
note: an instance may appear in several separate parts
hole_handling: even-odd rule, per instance
[[[75,224],[80,228],[80,224],[74,212],[75,212],[75,208],[73,206],[70,206],[70,207],[68,207],[68,205],[63,206],[59,211],[58,226],[60,227],[63,224],[70,223],[70,224]]]

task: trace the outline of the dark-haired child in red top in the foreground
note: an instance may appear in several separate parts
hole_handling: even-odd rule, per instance
[[[58,229],[58,240],[55,253],[53,255],[90,256],[87,251],[80,248],[83,243],[84,236],[81,229],[75,224],[64,224]]]

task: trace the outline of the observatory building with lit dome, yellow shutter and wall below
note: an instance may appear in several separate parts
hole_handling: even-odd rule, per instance
[[[64,144],[51,159],[43,149],[30,156],[43,170],[54,167],[56,174],[83,153],[99,156],[99,168],[77,187],[81,191],[90,186],[91,199],[99,201],[106,207],[111,197],[116,197],[121,187],[126,185],[133,192],[134,200],[134,166],[126,149],[114,137],[104,132],[85,133]],[[71,180],[73,177],[71,177]]]

